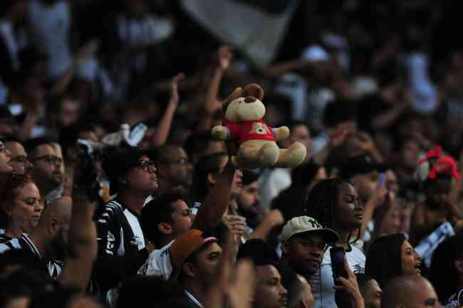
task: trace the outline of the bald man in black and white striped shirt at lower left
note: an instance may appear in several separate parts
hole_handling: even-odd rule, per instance
[[[36,257],[52,279],[61,274],[66,258],[69,224],[71,222],[71,197],[52,200],[43,210],[37,227],[31,235],[23,234],[0,245],[0,253],[19,249]]]

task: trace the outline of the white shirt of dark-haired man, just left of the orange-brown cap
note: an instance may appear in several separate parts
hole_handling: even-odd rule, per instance
[[[143,276],[162,276],[169,279],[172,273],[172,262],[170,262],[170,246],[172,243],[162,247],[160,250],[153,250],[148,256],[145,264],[140,267],[137,274]]]

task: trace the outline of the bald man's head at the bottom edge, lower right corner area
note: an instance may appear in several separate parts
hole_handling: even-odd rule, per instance
[[[382,308],[442,307],[432,284],[424,277],[412,274],[397,276],[386,284]]]

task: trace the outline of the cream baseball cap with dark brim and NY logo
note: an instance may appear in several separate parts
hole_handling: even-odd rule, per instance
[[[322,227],[315,218],[308,216],[291,218],[291,220],[286,222],[286,225],[283,227],[281,237],[283,240],[289,240],[289,238],[293,235],[304,232],[313,232],[321,235],[323,240],[326,240],[326,242],[338,242],[339,240],[338,233],[334,230]]]

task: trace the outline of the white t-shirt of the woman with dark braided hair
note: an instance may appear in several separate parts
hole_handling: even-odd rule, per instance
[[[330,248],[331,249],[331,248]],[[315,299],[314,308],[333,308],[338,307],[335,303],[333,289],[333,271],[331,270],[330,249],[326,250],[321,262],[320,272],[313,274],[308,278],[308,283],[311,285],[313,298]],[[357,247],[352,246],[350,252],[346,252],[350,270],[354,274],[365,272],[365,255]]]

